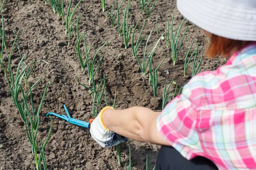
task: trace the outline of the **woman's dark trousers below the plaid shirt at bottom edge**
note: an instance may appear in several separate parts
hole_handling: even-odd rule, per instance
[[[187,160],[175,148],[162,146],[157,156],[156,170],[218,170],[215,164],[201,156]]]

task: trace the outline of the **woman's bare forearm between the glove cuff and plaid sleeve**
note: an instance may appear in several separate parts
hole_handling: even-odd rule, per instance
[[[124,110],[107,109],[103,114],[105,126],[119,135],[151,144],[170,144],[157,130],[157,117],[160,112],[148,108],[132,107]]]

